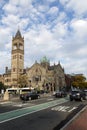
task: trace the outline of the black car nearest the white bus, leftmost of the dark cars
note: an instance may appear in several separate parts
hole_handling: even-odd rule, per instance
[[[40,95],[37,92],[20,94],[20,99],[24,101],[38,99],[38,98],[40,98]]]

